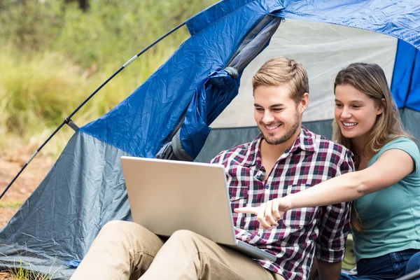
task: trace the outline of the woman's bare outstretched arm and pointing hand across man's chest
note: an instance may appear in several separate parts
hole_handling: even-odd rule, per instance
[[[278,225],[284,212],[302,207],[317,207],[356,200],[392,186],[414,171],[414,160],[400,149],[385,151],[373,165],[318,183],[307,190],[270,200],[260,207],[235,209],[237,213],[258,215],[264,228]]]

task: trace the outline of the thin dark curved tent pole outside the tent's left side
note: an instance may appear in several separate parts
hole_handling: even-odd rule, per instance
[[[164,38],[166,38],[167,36],[169,36],[170,34],[174,33],[174,31],[178,30],[179,28],[183,27],[183,25],[186,25],[186,22],[181,23],[181,25],[178,25],[177,27],[175,27],[174,29],[168,31],[165,35],[161,36],[160,38],[158,38],[158,40],[154,41],[153,43],[151,43],[150,45],[148,45],[148,47],[146,47],[144,50],[141,50],[141,52],[139,52],[137,55],[134,55],[134,57],[132,57],[129,61],[125,62],[125,64],[123,66],[120,67],[120,69],[118,69],[115,73],[113,73],[111,75],[111,77],[109,77],[108,79],[105,80],[104,83],[102,83],[102,85],[99,85],[99,87],[94,90],[94,92],[92,92],[92,94],[89,95],[89,97],[87,97],[85,99],[85,101],[83,101],[77,108],[76,110],[74,110],[62,123],[61,125],[59,125],[57,127],[57,129],[52,132],[52,134],[50,135],[50,137],[48,137],[47,140],[45,140],[43,142],[43,144],[36,150],[36,152],[31,155],[31,158],[29,158],[29,160],[25,163],[25,165],[23,165],[22,169],[20,169],[20,171],[18,172],[18,174],[16,174],[15,178],[13,178],[12,181],[10,181],[10,183],[8,184],[8,186],[6,187],[5,190],[3,190],[3,193],[1,193],[0,195],[0,200],[3,197],[3,195],[6,194],[6,192],[8,191],[8,189],[10,188],[10,186],[13,185],[13,183],[15,183],[16,179],[18,179],[18,177],[20,176],[20,174],[23,172],[23,170],[25,170],[25,168],[29,165],[29,163],[36,157],[36,155],[38,155],[39,151],[41,151],[41,149],[43,148],[43,146],[45,146],[45,144],[48,143],[48,141],[50,141],[50,139],[52,137],[54,137],[55,134],[57,134],[57,132],[59,132],[59,130],[61,130],[61,128],[64,125],[69,125],[69,123],[71,122],[71,117],[74,116],[74,114],[76,114],[93,96],[94,94],[97,94],[97,92],[99,92],[99,90],[102,89],[102,87],[104,87],[104,85],[106,85],[110,80],[112,80],[115,76],[118,75],[118,73],[120,73],[120,71],[123,71],[123,69],[125,69],[127,66],[129,66],[132,62],[134,62],[134,60],[136,60],[140,55],[143,55],[144,52],[148,51],[150,48],[152,48],[154,45],[156,45],[157,43],[159,43],[160,41],[162,41]]]

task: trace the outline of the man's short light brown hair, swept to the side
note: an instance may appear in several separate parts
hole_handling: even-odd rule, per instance
[[[253,91],[260,85],[287,85],[290,97],[299,103],[306,92],[309,93],[308,73],[295,59],[273,57],[258,69],[252,78]]]

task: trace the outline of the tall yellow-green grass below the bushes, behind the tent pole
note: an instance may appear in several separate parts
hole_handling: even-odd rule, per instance
[[[146,53],[100,90],[72,119],[80,127],[123,101],[162,65],[175,48]],[[130,57],[127,57],[127,60]],[[40,146],[122,62],[83,69],[60,52],[22,55],[11,45],[0,46],[0,148]],[[64,127],[44,153],[57,155],[73,130]]]

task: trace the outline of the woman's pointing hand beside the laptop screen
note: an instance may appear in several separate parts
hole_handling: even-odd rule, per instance
[[[284,212],[291,209],[291,203],[286,197],[275,198],[262,203],[260,207],[241,207],[236,208],[236,213],[249,213],[257,215],[258,221],[261,223],[262,228],[272,229],[272,226],[279,226],[278,221],[281,220]]]

